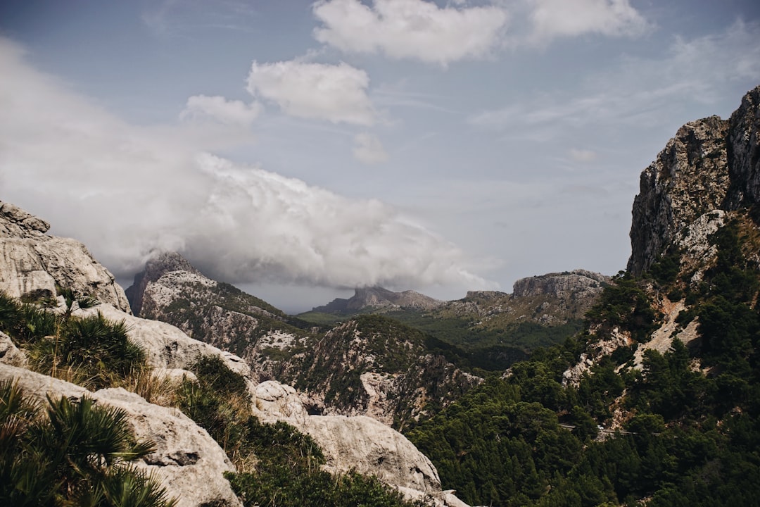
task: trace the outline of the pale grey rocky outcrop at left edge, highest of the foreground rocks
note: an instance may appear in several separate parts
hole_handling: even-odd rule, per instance
[[[74,239],[48,236],[48,223],[0,201],[0,291],[55,296],[55,286],[88,294],[130,312],[122,287]]]

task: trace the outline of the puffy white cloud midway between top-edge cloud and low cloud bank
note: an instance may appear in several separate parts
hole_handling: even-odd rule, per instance
[[[353,125],[375,122],[368,87],[369,75],[344,62],[253,62],[248,76],[249,92],[277,103],[287,115]]]

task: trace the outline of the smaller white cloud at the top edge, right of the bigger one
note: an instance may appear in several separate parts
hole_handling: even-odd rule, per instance
[[[638,36],[649,27],[629,0],[532,0],[530,21],[540,43],[584,33]]]

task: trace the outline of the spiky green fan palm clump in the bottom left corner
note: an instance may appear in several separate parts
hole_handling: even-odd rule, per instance
[[[131,466],[154,449],[136,442],[123,410],[89,398],[48,398],[44,414],[0,382],[0,504],[172,507],[157,480]]]

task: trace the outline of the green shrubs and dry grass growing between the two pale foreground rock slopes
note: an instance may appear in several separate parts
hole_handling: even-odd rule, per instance
[[[226,477],[244,505],[411,507],[375,477],[322,470],[325,456],[311,436],[282,421],[261,423],[251,414],[245,381],[219,358],[202,358],[192,371],[198,382],[182,383],[179,407],[236,465],[238,473]]]

